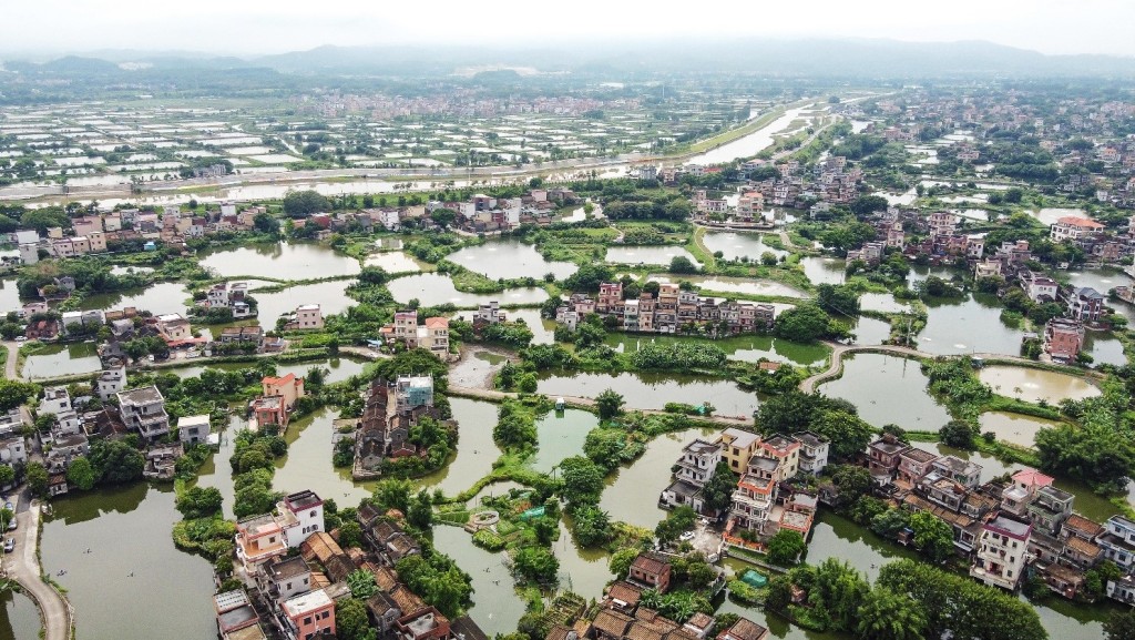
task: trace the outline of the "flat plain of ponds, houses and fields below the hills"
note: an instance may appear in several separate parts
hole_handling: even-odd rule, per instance
[[[758,84],[0,101],[11,635],[1128,638],[1129,90]]]

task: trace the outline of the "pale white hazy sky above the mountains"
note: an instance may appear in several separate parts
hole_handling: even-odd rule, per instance
[[[1135,56],[1132,0],[33,0],[0,3],[0,55],[99,49],[253,56],[322,44],[547,44],[581,38],[989,40]]]

